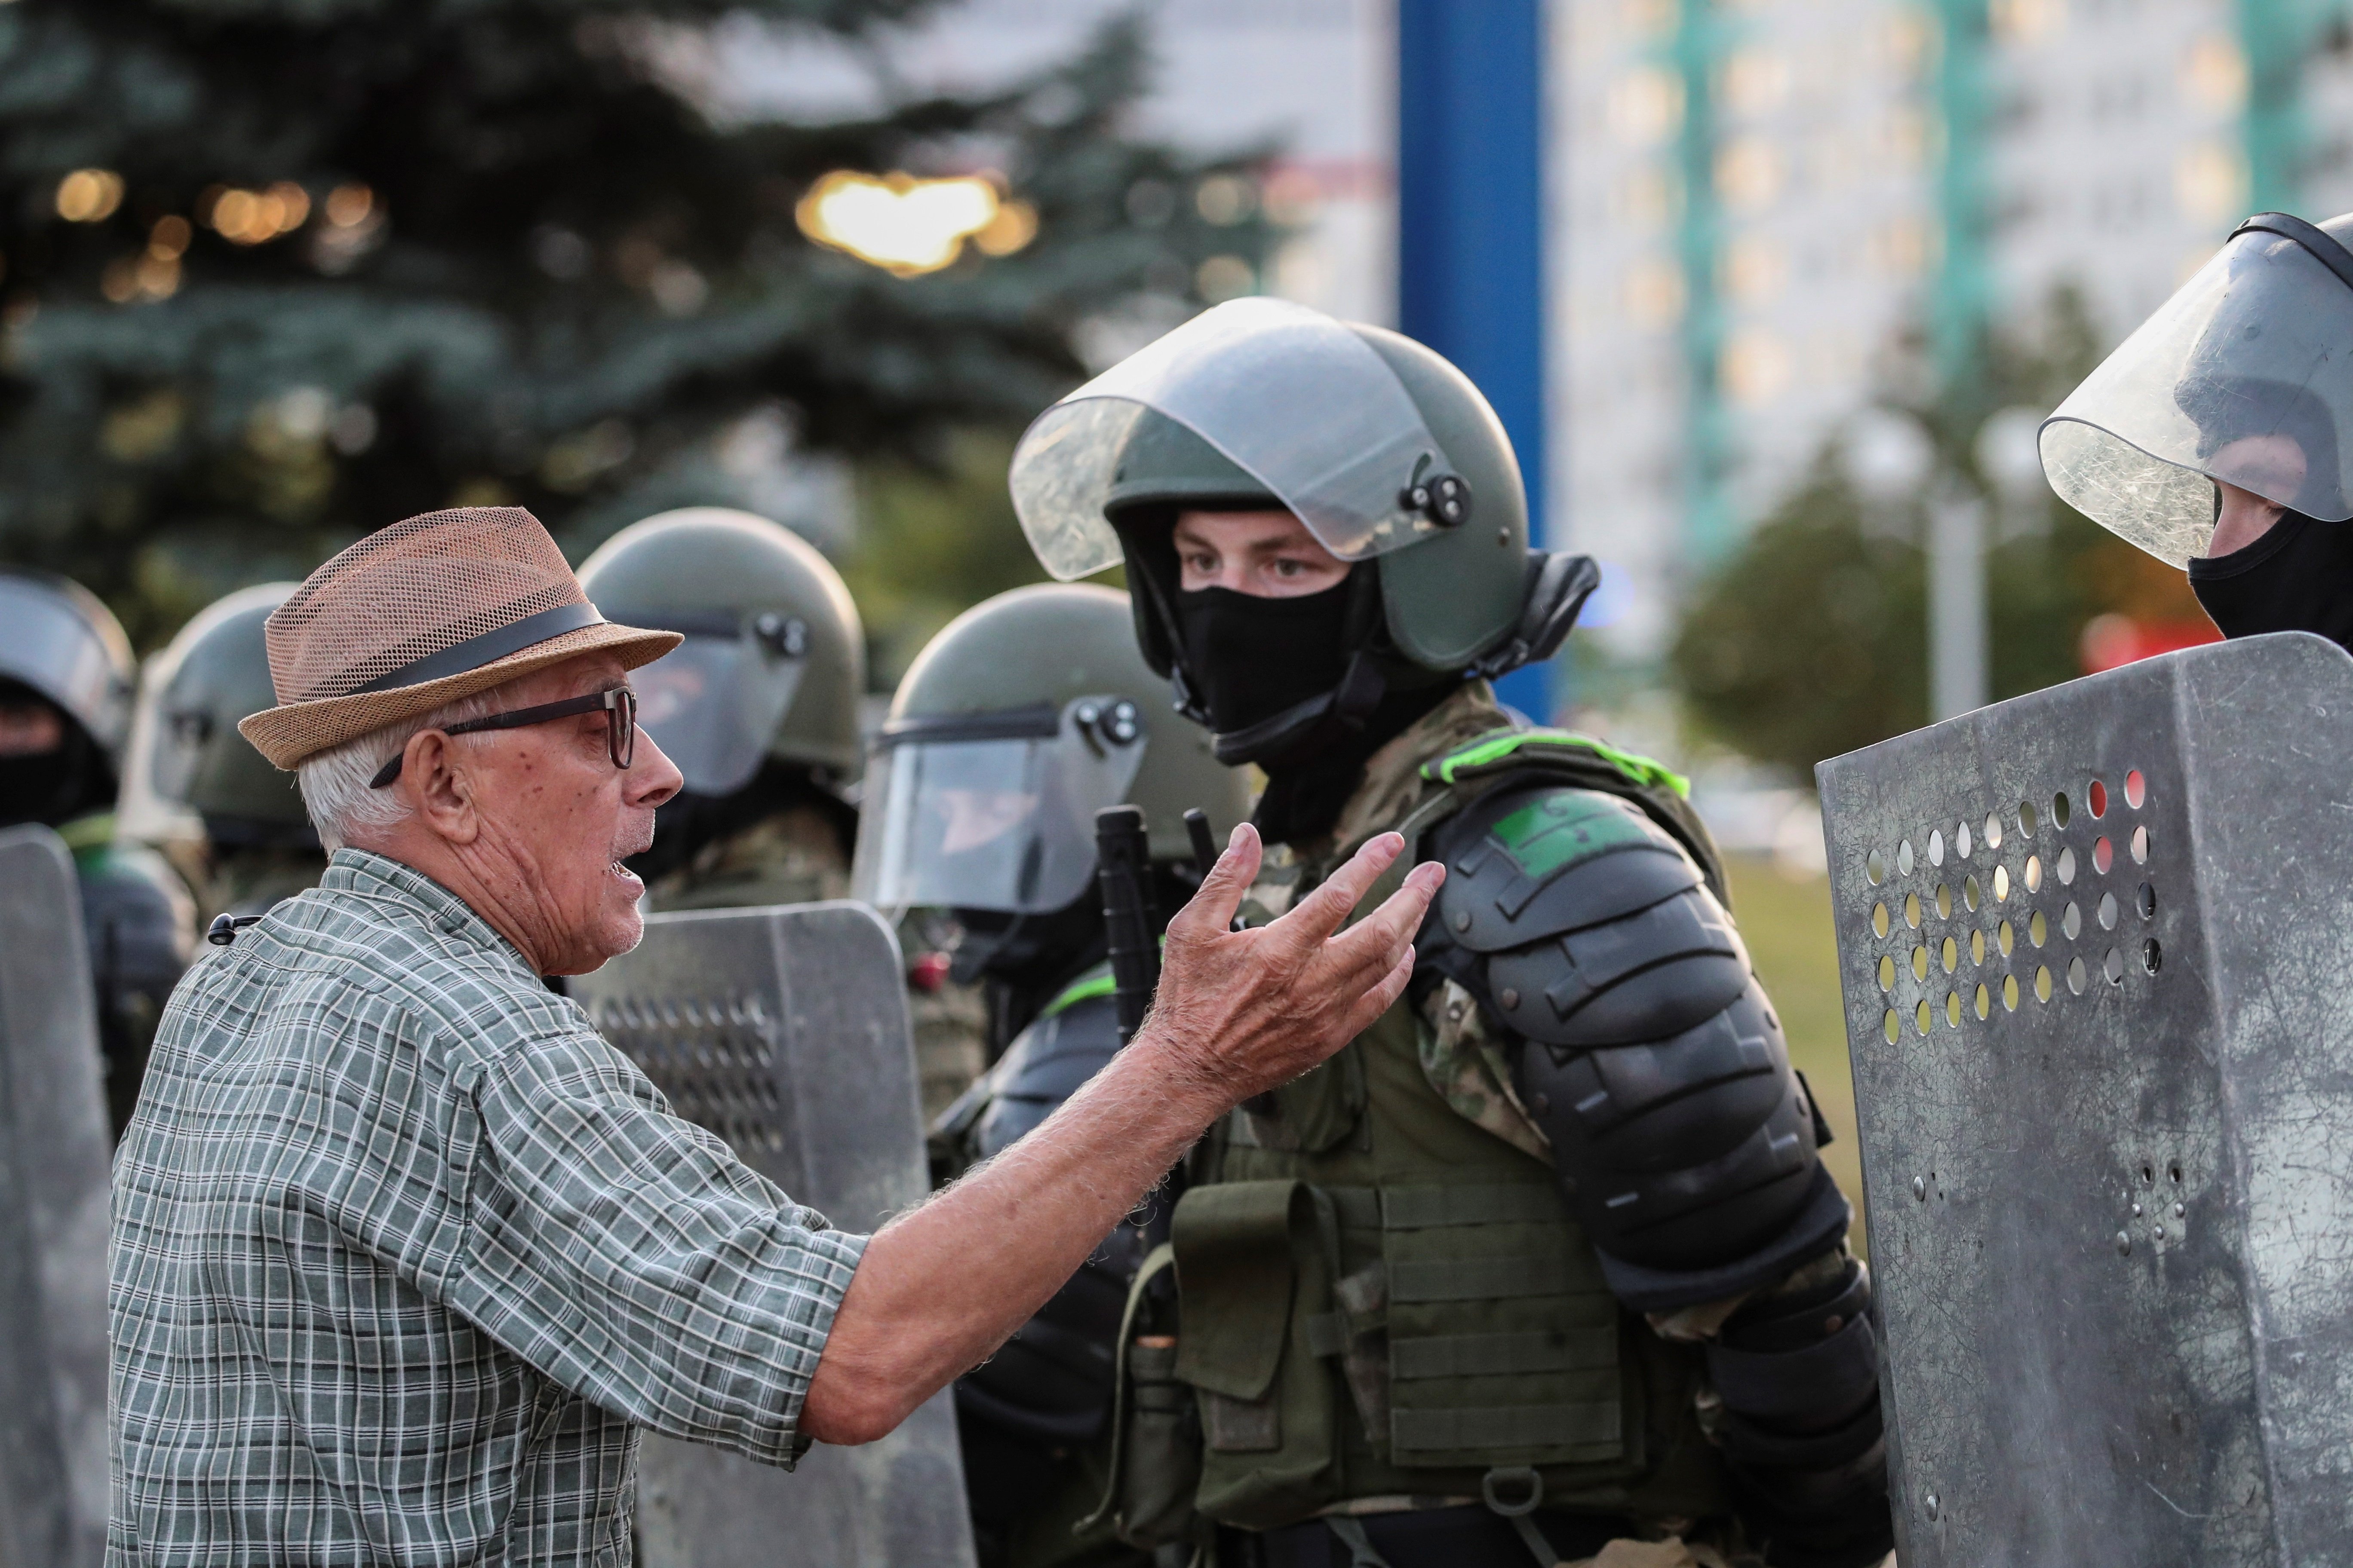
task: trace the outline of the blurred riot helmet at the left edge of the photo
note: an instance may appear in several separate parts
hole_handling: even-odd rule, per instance
[[[80,583],[0,567],[0,825],[104,806],[132,712],[132,644]]]

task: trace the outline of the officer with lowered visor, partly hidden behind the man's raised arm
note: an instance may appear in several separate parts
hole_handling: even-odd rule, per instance
[[[960,1173],[1045,1121],[1120,1048],[1094,813],[1144,806],[1160,917],[1195,886],[1184,813],[1219,844],[1249,809],[1235,769],[1169,712],[1127,595],[1016,588],[948,623],[892,701],[866,771],[856,891],[948,907],[960,978],[986,980],[995,1067],[934,1128]],[[986,1366],[955,1385],[984,1568],[1144,1561],[1096,1523],[1120,1312],[1144,1232],[1122,1225]]]

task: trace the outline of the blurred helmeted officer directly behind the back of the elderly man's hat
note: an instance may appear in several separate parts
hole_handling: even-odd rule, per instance
[[[139,679],[115,837],[162,851],[198,926],[264,914],[327,870],[292,773],[238,733],[238,719],[278,705],[261,623],[289,592],[261,583],[214,602]]]

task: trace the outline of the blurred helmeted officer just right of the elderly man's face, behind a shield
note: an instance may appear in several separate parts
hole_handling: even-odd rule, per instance
[[[631,860],[647,910],[847,898],[866,630],[831,562],[767,517],[699,505],[607,538],[581,588],[607,618],[687,635],[633,675],[638,722],[687,778]],[[929,1117],[984,1067],[979,997],[920,966],[908,1001]]]

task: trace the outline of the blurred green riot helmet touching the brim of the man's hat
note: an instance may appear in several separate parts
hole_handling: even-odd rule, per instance
[[[769,759],[856,776],[866,632],[842,576],[791,529],[718,505],[661,512],[607,538],[581,588],[607,618],[685,632],[633,684],[687,795],[734,795]]]

